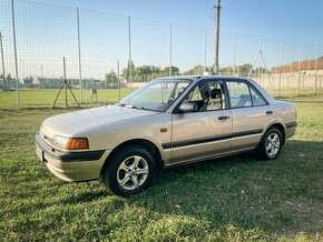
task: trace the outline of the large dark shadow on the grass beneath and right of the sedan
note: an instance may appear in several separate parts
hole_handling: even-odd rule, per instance
[[[287,141],[280,158],[253,153],[165,170],[129,203],[213,226],[258,228],[273,234],[323,232],[321,142]]]

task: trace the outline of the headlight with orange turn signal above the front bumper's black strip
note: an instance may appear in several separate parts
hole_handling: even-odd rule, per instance
[[[66,137],[53,137],[51,143],[55,147],[62,148],[66,150],[84,150],[89,149],[89,141],[87,138],[66,138]]]

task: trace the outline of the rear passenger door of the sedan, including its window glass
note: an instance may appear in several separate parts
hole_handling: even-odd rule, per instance
[[[266,112],[267,101],[247,81],[226,81],[232,110],[232,150],[255,148],[272,113]]]

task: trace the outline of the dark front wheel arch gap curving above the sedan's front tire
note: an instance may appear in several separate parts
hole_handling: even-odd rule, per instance
[[[104,171],[106,170],[107,165],[109,164],[109,161],[111,160],[111,158],[119,150],[121,150],[123,148],[129,147],[129,145],[140,145],[140,147],[144,147],[144,148],[148,149],[148,151],[151,152],[151,155],[156,159],[156,162],[157,162],[157,164],[156,164],[156,172],[158,173],[159,171],[163,170],[163,168],[164,168],[164,161],[161,159],[161,154],[160,154],[160,151],[157,148],[157,145],[155,143],[153,143],[151,141],[146,140],[146,139],[133,139],[133,140],[125,141],[124,143],[120,143],[115,149],[112,149],[112,151],[107,157],[104,165],[101,167],[100,175],[104,174]]]

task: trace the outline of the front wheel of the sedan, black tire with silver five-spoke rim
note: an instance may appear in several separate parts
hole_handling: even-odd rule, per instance
[[[154,180],[154,157],[140,145],[125,147],[107,162],[104,181],[115,194],[127,196],[141,192]]]

